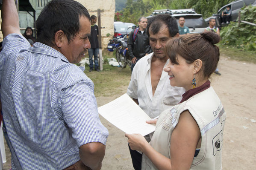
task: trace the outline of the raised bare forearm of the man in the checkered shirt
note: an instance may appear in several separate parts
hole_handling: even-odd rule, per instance
[[[12,33],[21,34],[18,12],[14,0],[3,0],[1,17],[3,37]]]

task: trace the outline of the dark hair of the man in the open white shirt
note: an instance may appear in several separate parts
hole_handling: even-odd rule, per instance
[[[158,14],[155,15],[147,21],[147,35],[149,35],[149,31],[153,32],[153,35],[157,34],[161,27],[166,25],[169,30],[169,35],[174,37],[179,33],[178,24],[175,17],[172,17],[170,14]]]

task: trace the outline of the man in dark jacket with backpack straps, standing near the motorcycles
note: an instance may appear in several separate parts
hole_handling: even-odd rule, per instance
[[[138,28],[133,30],[129,36],[127,46],[128,54],[132,59],[131,70],[139,59],[152,52],[146,28],[147,18],[140,17],[138,20]]]

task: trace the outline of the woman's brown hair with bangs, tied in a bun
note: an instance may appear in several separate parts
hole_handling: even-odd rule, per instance
[[[215,45],[220,36],[211,31],[201,34],[190,34],[172,38],[165,46],[165,53],[174,64],[179,64],[177,55],[180,55],[188,64],[200,59],[203,63],[203,75],[207,78],[215,71],[220,58],[219,47]]]

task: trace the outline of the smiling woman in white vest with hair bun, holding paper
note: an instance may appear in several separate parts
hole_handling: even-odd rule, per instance
[[[150,143],[125,134],[132,150],[143,153],[142,170],[221,170],[225,111],[209,77],[219,61],[214,32],[171,39],[164,68],[171,86],[184,87],[182,101],[159,116]]]

